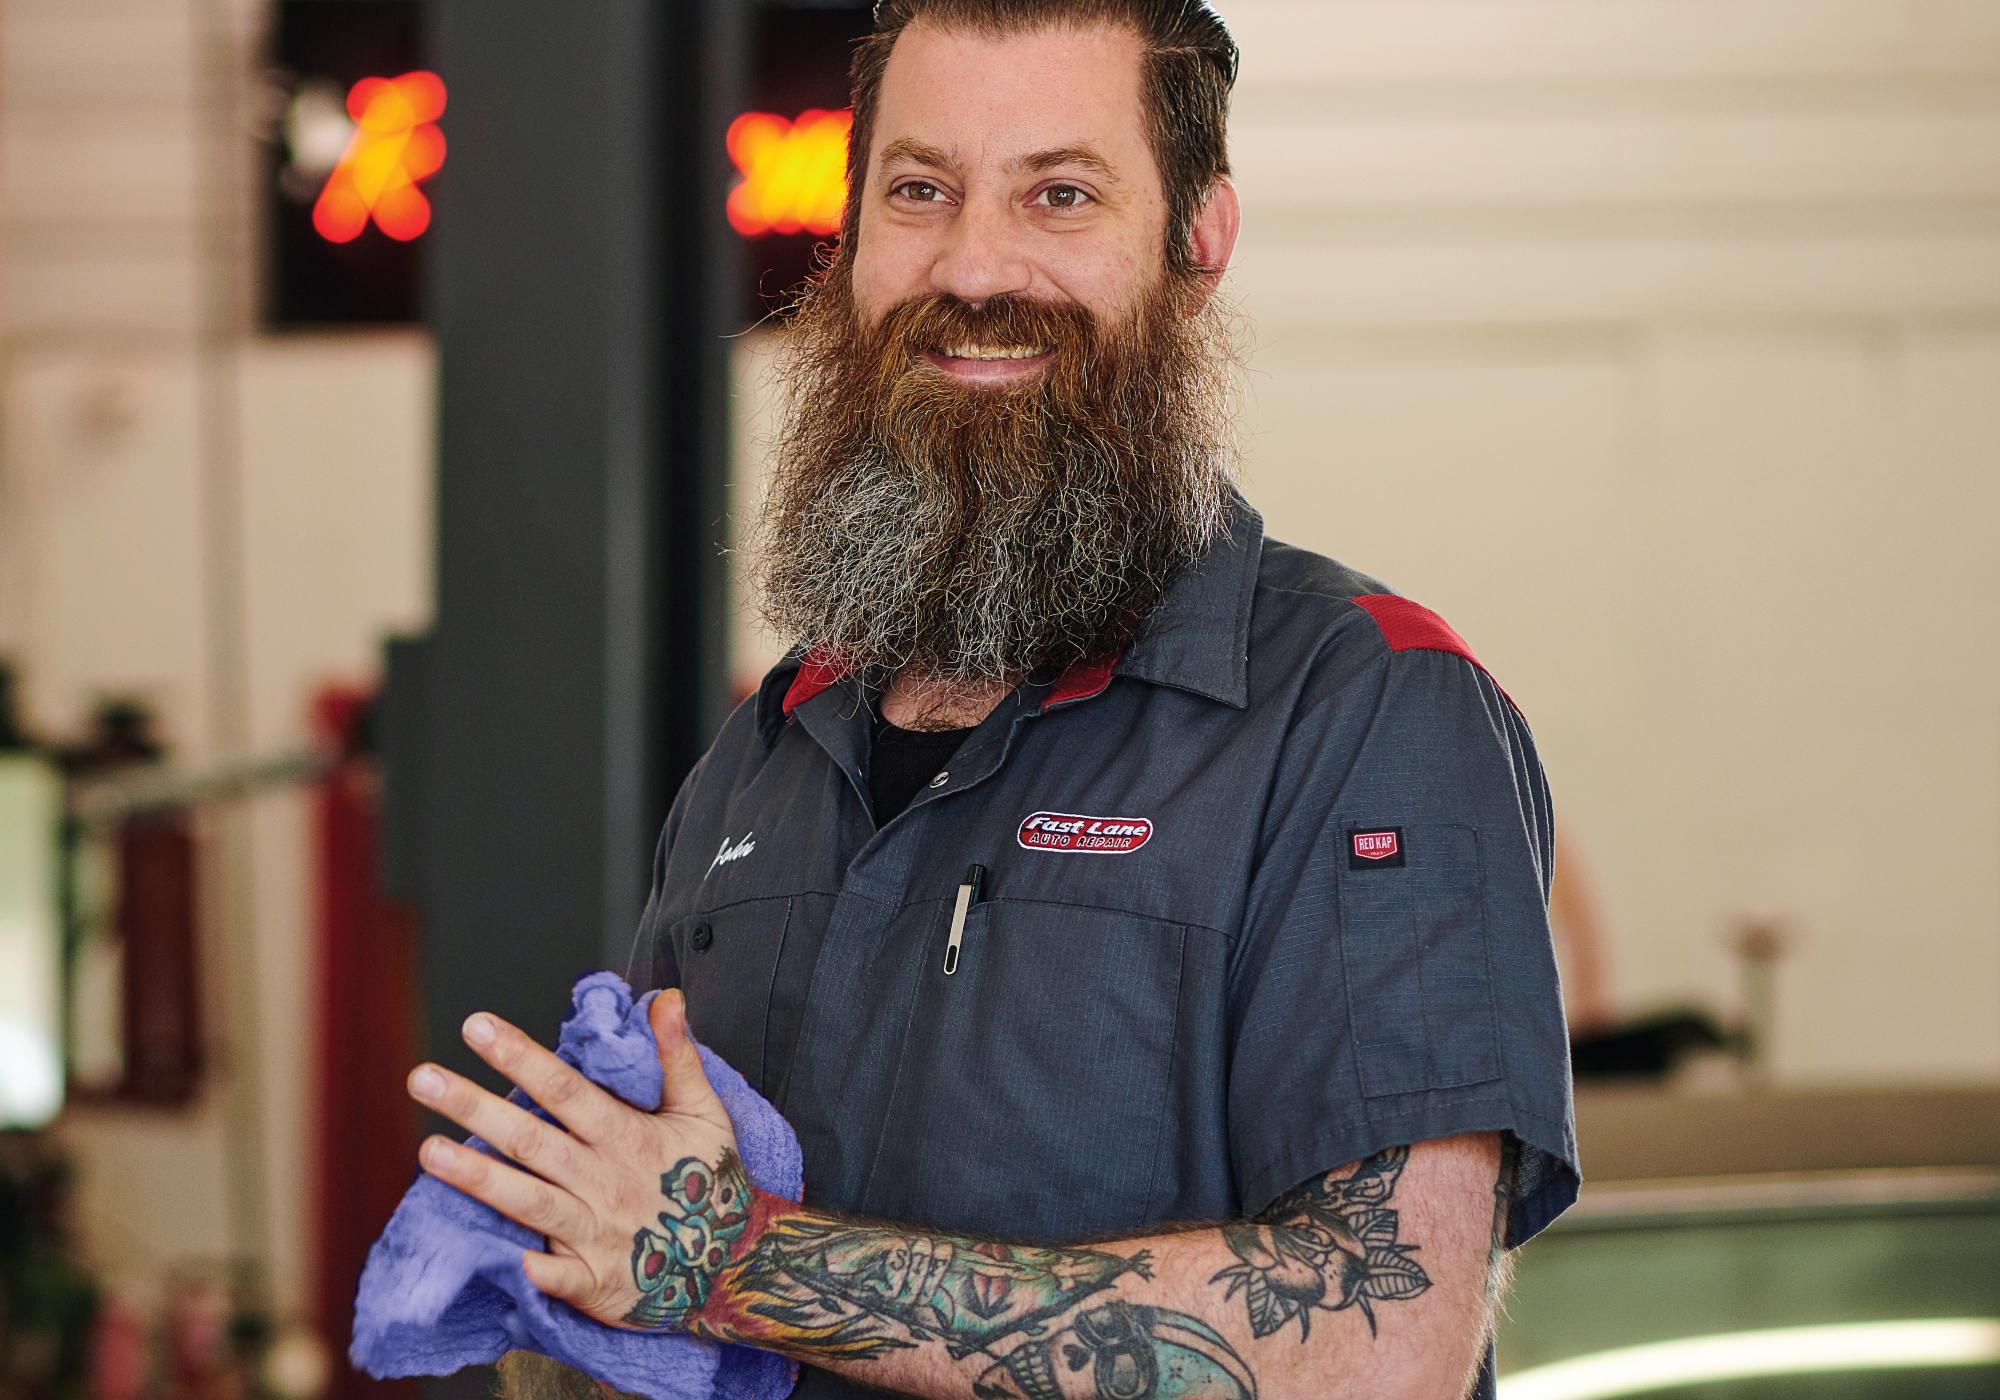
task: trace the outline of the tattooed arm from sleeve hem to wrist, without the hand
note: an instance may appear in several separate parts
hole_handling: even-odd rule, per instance
[[[1498,1164],[1494,1134],[1424,1142],[1316,1176],[1256,1220],[1070,1248],[760,1196],[710,1284],[646,1290],[628,1320],[704,1292],[682,1314],[696,1334],[922,1396],[1452,1400],[1486,1340]]]

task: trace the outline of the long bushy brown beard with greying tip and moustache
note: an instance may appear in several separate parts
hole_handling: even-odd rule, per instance
[[[962,386],[924,350],[1050,346],[1024,386]],[[844,260],[778,362],[752,536],[766,622],[940,694],[1120,652],[1222,532],[1230,336],[1192,280],[1118,324],[1018,296],[904,302],[862,326]]]

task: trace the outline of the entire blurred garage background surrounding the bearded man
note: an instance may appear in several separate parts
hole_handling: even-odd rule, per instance
[[[2000,1394],[2000,4],[1222,14],[1244,492],[1556,792],[1508,1394]],[[484,1394],[340,1360],[402,1074],[624,964],[776,656],[866,26],[0,8],[0,1396]]]

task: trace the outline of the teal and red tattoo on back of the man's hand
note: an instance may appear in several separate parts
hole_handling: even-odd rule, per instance
[[[710,1168],[684,1156],[660,1176],[662,1230],[632,1236],[632,1282],[638,1302],[626,1314],[636,1328],[680,1328],[696,1312],[750,1226],[750,1180],[734,1152]]]

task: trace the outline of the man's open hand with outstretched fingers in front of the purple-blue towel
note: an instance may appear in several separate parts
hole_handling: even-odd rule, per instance
[[[476,1012],[466,1018],[464,1040],[486,1064],[520,1084],[536,1104],[564,1126],[542,1122],[524,1108],[486,1092],[472,1080],[436,1064],[410,1072],[410,1096],[452,1122],[476,1132],[502,1152],[508,1166],[448,1138],[428,1138],[418,1160],[432,1176],[474,1196],[510,1220],[548,1236],[546,1252],[522,1254],[522,1272],[542,1292],[614,1326],[658,1326],[680,1322],[684,1308],[662,1308],[648,1298],[636,1276],[636,1242],[642,1232],[668,1248],[670,1228],[660,1236],[662,1176],[684,1174],[688,1158],[708,1168],[734,1168],[736,1130],[702,1072],[700,1054],[688,1040],[686,1004],[680,992],[660,992],[650,1012],[660,1044],[666,1086],[656,1112],[640,1112],[604,1092],[516,1026]],[[564,1132],[568,1128],[568,1132]],[[740,1180],[740,1168],[734,1168]],[[678,1234],[688,1234],[686,1228]],[[692,1238],[692,1236],[690,1236]],[[706,1250],[686,1260],[684,1300],[700,1306],[714,1274]],[[652,1290],[658,1294],[658,1288]],[[648,1308],[648,1302],[654,1304]]]

